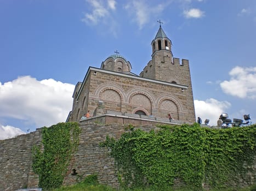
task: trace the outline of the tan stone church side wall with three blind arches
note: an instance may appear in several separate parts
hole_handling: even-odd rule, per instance
[[[134,114],[140,110],[146,115],[167,117],[170,113],[175,120],[195,122],[191,87],[183,91],[180,87],[143,78],[134,79],[128,75],[112,75],[98,71],[96,75],[90,75],[90,86],[83,91],[89,91],[88,109],[91,114],[105,114],[106,110]],[[83,91],[78,98],[77,106],[80,111],[85,112],[82,108]],[[96,112],[99,109],[101,113]]]

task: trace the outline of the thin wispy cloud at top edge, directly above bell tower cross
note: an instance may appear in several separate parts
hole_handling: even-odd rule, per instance
[[[168,7],[170,2],[165,2],[164,4],[155,4],[150,6],[149,2],[141,0],[141,1],[132,1],[129,2],[124,8],[128,11],[128,13],[132,16],[133,21],[135,21],[139,29],[142,29],[146,23],[152,21],[154,17],[160,15],[164,8]]]

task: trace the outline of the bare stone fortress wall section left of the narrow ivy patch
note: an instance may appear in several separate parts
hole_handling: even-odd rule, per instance
[[[33,145],[40,145],[41,141],[41,129],[13,139],[0,140],[0,190],[13,191],[37,186],[38,177],[31,169],[31,150]]]

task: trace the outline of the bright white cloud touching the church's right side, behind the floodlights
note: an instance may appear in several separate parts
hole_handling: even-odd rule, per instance
[[[210,98],[206,101],[194,100],[196,118],[201,117],[202,121],[209,119],[210,126],[217,126],[217,120],[221,113],[225,113],[225,110],[230,108],[229,102],[220,102],[216,99]]]

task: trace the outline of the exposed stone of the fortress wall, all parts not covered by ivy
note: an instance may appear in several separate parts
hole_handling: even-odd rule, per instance
[[[63,184],[69,185],[83,180],[87,175],[97,174],[102,184],[111,187],[118,187],[117,169],[115,161],[110,157],[110,150],[100,147],[106,136],[118,139],[125,132],[127,126],[121,124],[95,124],[83,121],[80,124],[81,134],[77,152],[72,157],[67,175]],[[156,129],[155,126],[140,127],[143,130]],[[31,148],[33,145],[40,145],[42,141],[41,129],[30,134],[19,135],[13,139],[0,141],[0,190],[16,190],[19,188],[38,187],[38,176],[32,171]],[[253,173],[247,173],[247,179],[241,180],[244,187],[256,182],[256,162],[253,166]],[[77,175],[71,175],[75,169]],[[175,182],[180,184],[180,181]],[[207,184],[205,185],[207,187]]]

